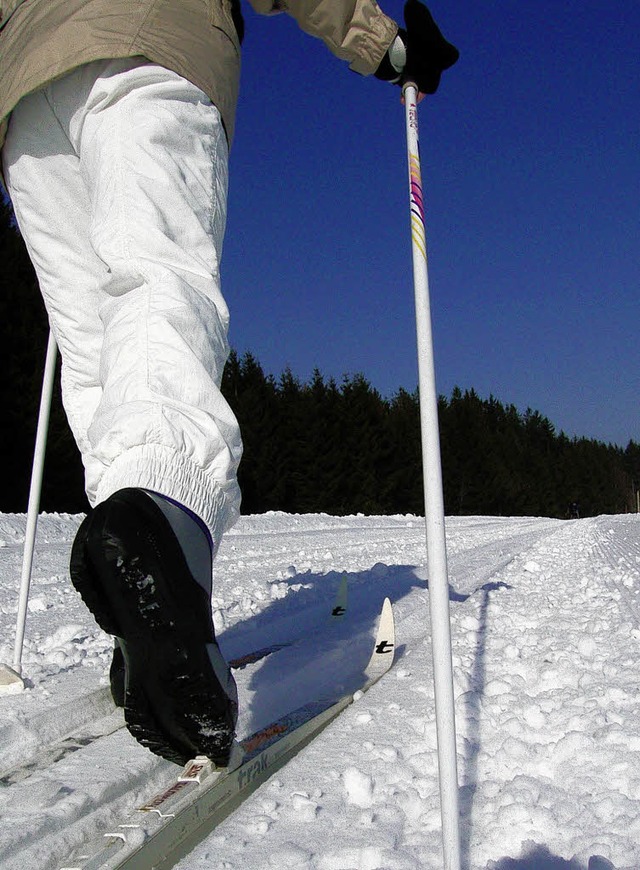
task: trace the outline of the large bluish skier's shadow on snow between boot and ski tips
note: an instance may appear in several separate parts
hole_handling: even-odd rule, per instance
[[[294,645],[238,674],[241,690],[239,733],[252,733],[278,716],[318,698],[355,691],[362,683],[385,598],[403,610],[411,592],[428,589],[415,565],[378,563],[363,571],[297,573],[278,580],[278,595],[268,607],[228,628],[218,640],[233,659],[252,649],[293,639]],[[347,579],[347,614],[331,621],[331,608],[342,578]],[[284,587],[284,588],[283,588]],[[288,594],[290,592],[295,594]],[[452,601],[464,601],[454,589]],[[427,614],[425,613],[425,619]],[[345,647],[348,655],[345,656]],[[396,660],[405,646],[396,648]]]

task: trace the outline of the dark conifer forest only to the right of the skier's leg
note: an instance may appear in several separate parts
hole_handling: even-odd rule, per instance
[[[424,512],[419,399],[383,398],[364,378],[265,375],[232,354],[223,392],[240,421],[244,510]],[[537,411],[456,388],[438,402],[448,515],[565,517],[635,510],[640,445],[557,434]]]

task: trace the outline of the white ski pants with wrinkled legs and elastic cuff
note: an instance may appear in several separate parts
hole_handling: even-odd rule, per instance
[[[218,542],[239,512],[242,451],[219,389],[229,316],[218,110],[142,58],[96,61],[20,102],[2,158],[90,503],[154,490]]]

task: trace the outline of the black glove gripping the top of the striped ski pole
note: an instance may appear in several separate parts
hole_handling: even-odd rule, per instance
[[[440,33],[420,0],[407,0],[404,21],[406,30],[398,30],[375,75],[395,85],[412,81],[420,93],[435,94],[440,76],[454,65],[460,53]]]

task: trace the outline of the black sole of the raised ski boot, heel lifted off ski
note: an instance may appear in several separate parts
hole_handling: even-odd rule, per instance
[[[123,489],[84,520],[71,580],[124,659],[127,727],[152,752],[225,766],[235,682],[215,640],[210,597],[154,497]]]

